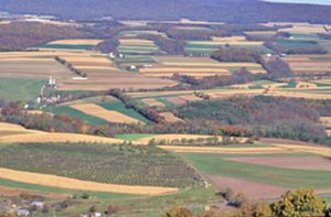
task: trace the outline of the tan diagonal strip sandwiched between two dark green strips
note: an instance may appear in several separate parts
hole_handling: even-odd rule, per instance
[[[139,123],[142,123],[141,121],[139,121],[137,119],[128,117],[118,111],[107,110],[95,104],[75,104],[75,105],[71,105],[71,107],[76,110],[79,110],[84,113],[102,118],[109,122],[118,122],[118,123],[138,123],[139,122]]]

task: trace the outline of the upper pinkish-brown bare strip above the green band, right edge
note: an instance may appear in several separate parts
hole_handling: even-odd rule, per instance
[[[331,171],[331,160],[321,156],[258,156],[226,160],[284,169]]]

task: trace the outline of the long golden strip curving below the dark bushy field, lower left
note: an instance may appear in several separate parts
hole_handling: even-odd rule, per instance
[[[178,188],[172,188],[172,187],[104,184],[104,183],[61,177],[55,175],[13,171],[9,169],[0,169],[0,177],[15,181],[15,182],[34,184],[34,185],[60,187],[66,189],[88,191],[88,192],[138,194],[138,195],[160,195],[160,194],[170,194],[170,193],[178,192]]]

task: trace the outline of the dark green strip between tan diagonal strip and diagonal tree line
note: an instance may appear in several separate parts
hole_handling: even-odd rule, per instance
[[[121,112],[126,116],[129,116],[131,118],[135,118],[137,120],[140,120],[141,122],[148,123],[149,120],[146,119],[143,116],[141,116],[140,113],[138,113],[137,111],[135,111],[131,108],[126,108],[126,105],[121,101],[113,101],[113,102],[102,102],[98,104],[99,106],[104,107],[107,110],[114,110],[114,111],[118,111]]]

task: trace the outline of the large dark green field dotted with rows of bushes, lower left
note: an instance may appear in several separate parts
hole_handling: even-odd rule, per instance
[[[17,150],[22,155],[12,154]],[[0,154],[1,167],[106,184],[184,187],[196,177],[180,159],[147,147],[11,144],[1,145]]]

